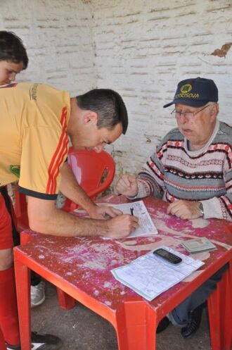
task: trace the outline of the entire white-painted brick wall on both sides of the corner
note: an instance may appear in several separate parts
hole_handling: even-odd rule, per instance
[[[219,87],[221,120],[231,123],[231,0],[8,0],[1,28],[27,46],[22,80],[48,82],[72,94],[109,87],[124,97],[129,130],[108,147],[117,173],[135,173],[175,125],[162,106],[187,77],[209,77]]]

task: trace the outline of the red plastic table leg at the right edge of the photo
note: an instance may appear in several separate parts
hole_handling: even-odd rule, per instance
[[[232,339],[232,265],[208,299],[212,350],[231,350]]]

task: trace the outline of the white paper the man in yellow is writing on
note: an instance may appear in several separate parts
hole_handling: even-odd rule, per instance
[[[133,203],[124,204],[112,204],[116,209],[119,209],[124,214],[131,214],[131,209],[133,209],[133,215],[138,218],[139,227],[132,232],[129,237],[141,237],[141,236],[153,236],[156,235],[157,228],[155,227],[153,220],[150,218],[150,214],[143,201],[134,201]]]

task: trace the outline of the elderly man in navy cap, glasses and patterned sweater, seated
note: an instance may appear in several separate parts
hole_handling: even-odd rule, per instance
[[[232,128],[217,120],[218,89],[197,77],[179,82],[172,115],[178,127],[162,139],[137,177],[123,175],[116,189],[130,199],[153,195],[169,202],[167,213],[182,219],[232,220]],[[202,308],[226,267],[164,318],[182,327],[183,337],[198,330]]]

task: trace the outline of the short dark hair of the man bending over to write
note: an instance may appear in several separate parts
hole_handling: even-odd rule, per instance
[[[76,99],[79,108],[98,114],[98,129],[106,127],[112,130],[115,125],[122,123],[122,133],[127,132],[127,108],[117,92],[111,89],[93,89],[77,96]]]

